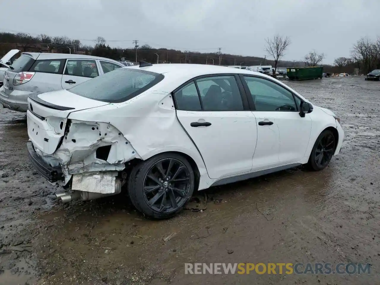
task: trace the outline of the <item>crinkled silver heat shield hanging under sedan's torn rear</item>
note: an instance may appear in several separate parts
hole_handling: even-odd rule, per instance
[[[71,189],[101,194],[115,193],[116,176],[117,171],[74,174]]]

